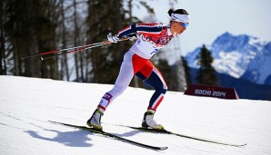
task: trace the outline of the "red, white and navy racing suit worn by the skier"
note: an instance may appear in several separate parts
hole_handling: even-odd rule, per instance
[[[167,86],[162,74],[149,59],[160,48],[165,47],[175,35],[170,32],[170,24],[153,23],[128,25],[116,36],[122,38],[129,34],[136,34],[137,40],[125,53],[114,88],[105,93],[98,108],[105,111],[108,105],[125,91],[133,76],[136,75],[156,90],[147,107],[148,110],[156,111],[164,98]]]

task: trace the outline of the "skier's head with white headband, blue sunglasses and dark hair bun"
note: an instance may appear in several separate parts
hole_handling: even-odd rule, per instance
[[[170,31],[172,34],[182,34],[189,24],[189,14],[185,9],[169,9]]]

